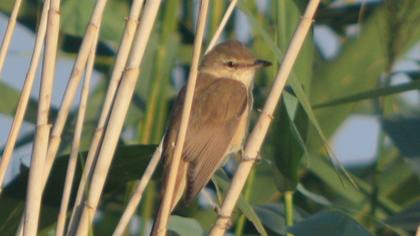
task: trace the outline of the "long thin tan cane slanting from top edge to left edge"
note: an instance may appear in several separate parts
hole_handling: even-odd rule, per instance
[[[16,109],[15,117],[13,118],[12,127],[10,128],[10,131],[9,131],[9,136],[7,138],[3,156],[0,159],[0,195],[2,192],[4,176],[6,175],[6,171],[9,166],[10,159],[12,157],[13,149],[15,147],[20,128],[22,127],[23,118],[25,116],[29,97],[31,95],[32,85],[35,80],[35,73],[39,65],[42,45],[44,44],[45,32],[47,29],[49,6],[50,6],[50,0],[45,0],[44,6],[42,9],[41,20],[38,27],[38,33],[35,38],[35,46],[32,53],[31,63],[30,63],[28,72],[26,74],[25,83],[23,84],[23,88],[20,93],[19,103]]]

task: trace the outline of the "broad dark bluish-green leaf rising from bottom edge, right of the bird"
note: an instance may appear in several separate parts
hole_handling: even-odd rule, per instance
[[[289,228],[289,232],[299,236],[368,236],[371,235],[362,225],[340,211],[324,211]]]

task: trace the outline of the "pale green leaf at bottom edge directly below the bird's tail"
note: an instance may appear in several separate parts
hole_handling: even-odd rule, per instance
[[[170,216],[168,230],[177,233],[179,236],[205,235],[203,228],[195,219],[176,215]]]

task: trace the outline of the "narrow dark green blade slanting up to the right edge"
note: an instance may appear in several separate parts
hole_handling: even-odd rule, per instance
[[[379,98],[383,96],[389,96],[393,94],[398,94],[402,92],[407,92],[410,90],[416,90],[420,88],[420,81],[415,80],[409,83],[399,84],[399,85],[392,85],[385,88],[377,88],[377,89],[371,89],[365,92],[356,93],[353,95],[340,97],[336,99],[332,99],[329,101],[321,102],[318,104],[313,105],[312,107],[314,109],[318,108],[324,108],[324,107],[330,107],[330,106],[337,106],[347,103],[353,103],[353,102],[359,102],[366,99],[373,99],[373,98]]]

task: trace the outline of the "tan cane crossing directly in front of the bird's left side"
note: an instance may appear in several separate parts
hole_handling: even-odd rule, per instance
[[[157,219],[157,234],[158,235],[165,235],[166,228],[168,224],[174,188],[175,188],[175,181],[176,176],[178,174],[179,163],[181,161],[182,156],[182,148],[184,146],[185,135],[187,133],[188,121],[190,118],[191,106],[193,101],[193,95],[195,90],[195,84],[198,74],[198,64],[200,60],[200,53],[201,53],[201,45],[203,42],[204,37],[204,30],[207,22],[207,11],[208,11],[208,0],[202,0],[199,16],[198,16],[198,24],[197,24],[197,33],[194,40],[194,50],[193,50],[193,57],[191,61],[191,70],[188,76],[188,84],[187,84],[187,91],[185,94],[185,101],[184,107],[182,109],[182,119],[181,124],[179,127],[179,132],[175,144],[175,150],[171,161],[171,166],[169,167],[169,174],[167,179],[167,185],[165,189],[165,194],[163,195],[162,205],[160,206],[162,211],[159,214],[159,219]],[[166,181],[166,180],[165,180]]]

